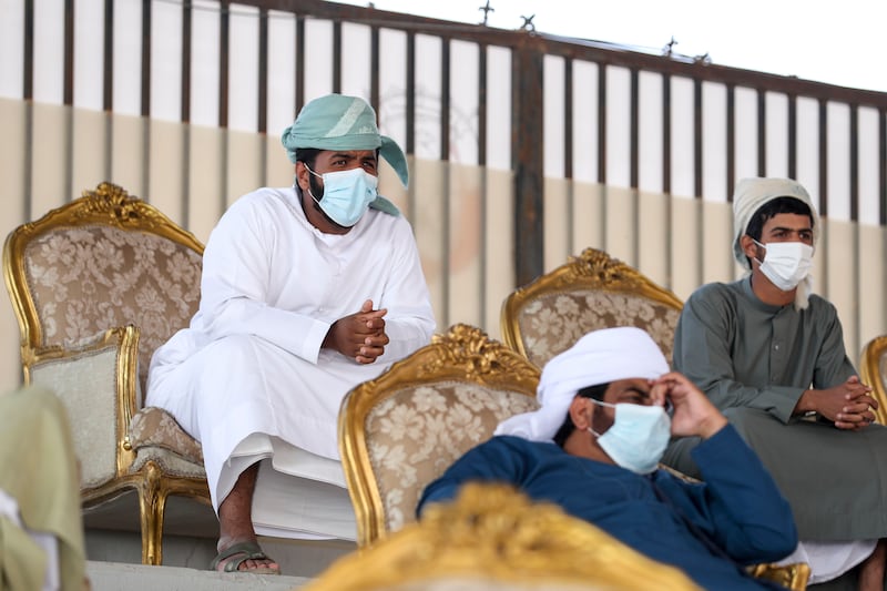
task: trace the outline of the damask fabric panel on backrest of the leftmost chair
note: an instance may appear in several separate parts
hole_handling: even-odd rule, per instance
[[[197,309],[201,256],[161,236],[106,225],[62,227],[35,238],[24,259],[42,344],[70,345],[134,324],[141,391],[154,349]]]

